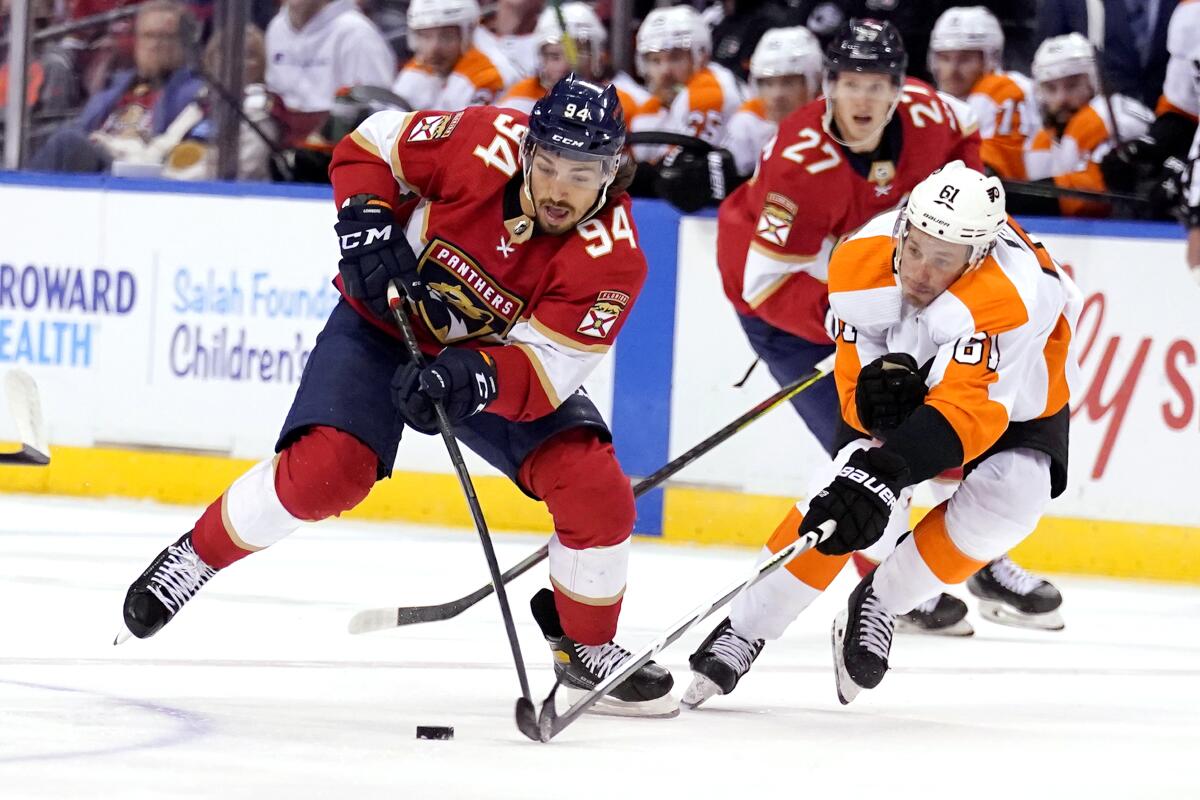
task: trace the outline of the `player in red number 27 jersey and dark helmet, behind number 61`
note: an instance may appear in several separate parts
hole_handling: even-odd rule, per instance
[[[942,164],[982,169],[965,104],[905,78],[907,54],[890,23],[852,19],[829,43],[824,98],[780,122],[757,173],[721,204],[716,260],[725,294],[755,353],[780,385],[833,353],[826,277],[834,245],[892,209]],[[792,399],[833,456],[839,415],[832,380]],[[966,615],[946,595],[906,620],[953,626]]]

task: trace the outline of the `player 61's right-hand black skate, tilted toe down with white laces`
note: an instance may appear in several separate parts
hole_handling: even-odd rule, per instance
[[[838,699],[848,704],[864,688],[875,688],[888,670],[895,616],[875,595],[875,571],[850,593],[846,608],[833,621],[833,666]]]

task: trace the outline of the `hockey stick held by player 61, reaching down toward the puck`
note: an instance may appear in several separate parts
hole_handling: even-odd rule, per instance
[[[743,590],[758,583],[800,553],[816,547],[820,542],[823,542],[833,534],[834,528],[835,524],[832,519],[823,522],[821,524],[820,533],[811,530],[804,534],[766,561],[758,564],[749,578],[730,585],[718,596],[716,600],[697,606],[695,610],[686,616],[683,616],[674,625],[667,628],[662,636],[647,644],[635,655],[630,656],[630,658],[622,664],[619,670],[610,673],[607,678],[593,686],[587,694],[572,703],[571,706],[563,714],[558,714],[558,710],[554,708],[554,693],[558,691],[560,685],[557,680],[554,681],[553,688],[550,690],[550,694],[546,696],[546,699],[541,704],[541,712],[536,716],[534,716],[533,705],[523,702],[524,698],[517,700],[517,729],[534,741],[550,741],[562,733],[563,728],[571,724],[571,722],[578,718],[581,714],[592,708],[596,700],[607,694],[608,690],[619,685],[635,672],[641,669],[647,661],[654,657],[654,654],[677,642],[679,637],[698,625],[704,618],[715,612],[718,608],[721,608],[725,603],[733,600]]]

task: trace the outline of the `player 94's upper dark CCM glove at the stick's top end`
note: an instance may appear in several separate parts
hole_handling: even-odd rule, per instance
[[[445,305],[418,275],[416,257],[390,206],[348,205],[338,211],[334,229],[342,247],[337,270],[346,294],[365,302],[380,319],[391,319],[388,284],[397,281],[431,331],[449,329]]]

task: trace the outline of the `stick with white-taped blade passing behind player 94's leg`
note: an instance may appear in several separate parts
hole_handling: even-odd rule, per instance
[[[709,450],[721,444],[726,439],[731,438],[734,433],[742,431],[758,417],[761,417],[767,411],[772,410],[776,405],[791,399],[796,395],[815,384],[817,380],[823,378],[832,369],[832,356],[820,362],[812,372],[809,374],[797,378],[792,383],[787,384],[778,392],[762,401],[752,409],[733,420],[724,428],[708,437],[698,445],[673,458],[671,462],[665,464],[653,475],[642,479],[634,487],[634,497],[640,498],[650,489],[658,487],[668,477],[678,473],[680,469],[696,461]],[[524,575],[532,567],[540,564],[548,553],[548,546],[542,545],[535,552],[527,555],[520,563],[509,567],[509,570],[500,576],[502,583],[509,583],[514,578]],[[463,613],[487,595],[492,594],[492,584],[486,584],[480,587],[475,591],[460,597],[457,600],[451,600],[446,603],[439,603],[437,606],[401,606],[400,608],[368,608],[361,610],[350,618],[350,633],[370,633],[372,631],[385,631],[392,627],[403,627],[406,625],[416,625],[420,622],[439,622],[442,620],[452,619],[458,614]]]

